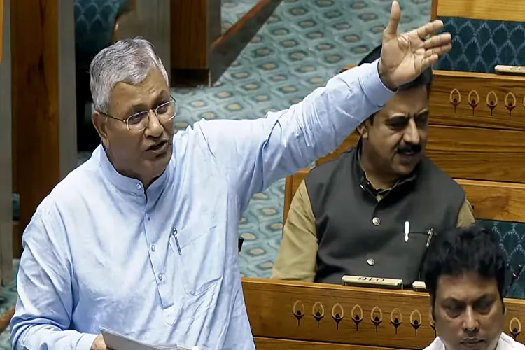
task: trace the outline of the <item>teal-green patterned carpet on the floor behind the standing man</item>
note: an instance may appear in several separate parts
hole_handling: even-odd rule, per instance
[[[223,0],[223,30],[255,2]],[[400,0],[400,5],[401,31],[430,18],[430,0]],[[201,118],[253,119],[299,102],[381,42],[390,6],[391,0],[283,0],[214,87],[174,90],[181,106],[177,126],[183,129]],[[283,189],[284,181],[277,181],[255,195],[244,213],[239,225],[244,276],[271,273],[281,241]],[[15,286],[4,287],[0,308],[12,306],[15,297]],[[4,349],[10,349],[8,332],[0,335]]]

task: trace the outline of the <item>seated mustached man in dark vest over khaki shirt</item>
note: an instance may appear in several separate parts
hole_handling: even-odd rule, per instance
[[[380,55],[381,46],[359,65]],[[373,276],[409,286],[420,280],[428,230],[475,221],[461,186],[423,154],[432,78],[426,69],[400,87],[358,127],[355,148],[309,172],[293,197],[272,279]]]

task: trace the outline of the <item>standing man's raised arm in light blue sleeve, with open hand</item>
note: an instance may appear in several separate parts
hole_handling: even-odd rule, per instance
[[[256,120],[195,125],[237,191],[242,209],[253,193],[337,148],[384,106],[393,90],[414,80],[451,48],[450,34],[426,38],[443,27],[441,21],[398,35],[399,20],[399,4],[394,1],[381,59],[340,73],[299,104]]]

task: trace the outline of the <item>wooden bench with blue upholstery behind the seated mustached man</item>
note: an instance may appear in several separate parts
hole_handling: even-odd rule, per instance
[[[351,134],[328,162],[353,147]],[[475,217],[495,235],[512,267],[525,265],[525,77],[434,71],[426,154],[463,186]],[[309,169],[288,176],[283,221]],[[510,297],[525,298],[525,278]]]

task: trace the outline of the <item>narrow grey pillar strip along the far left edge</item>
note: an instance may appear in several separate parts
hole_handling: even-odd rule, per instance
[[[0,0],[0,283],[13,281],[11,185],[11,52],[9,5]]]

